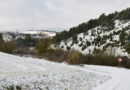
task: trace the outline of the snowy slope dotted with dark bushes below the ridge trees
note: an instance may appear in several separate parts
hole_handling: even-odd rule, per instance
[[[78,50],[83,54],[92,53],[94,49],[114,52],[115,55],[128,56],[128,53],[121,45],[121,34],[125,33],[124,42],[129,43],[130,21],[115,20],[114,29],[108,30],[107,27],[97,26],[85,33],[80,33],[77,37],[62,41],[60,48]],[[114,46],[114,47],[113,47]]]

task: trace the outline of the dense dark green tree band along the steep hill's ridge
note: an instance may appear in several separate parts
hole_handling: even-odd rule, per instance
[[[63,31],[57,33],[54,37],[54,41],[56,43],[61,42],[62,40],[67,40],[69,38],[75,37],[79,33],[85,33],[88,30],[96,27],[96,26],[103,26],[107,27],[107,31],[110,31],[114,28],[114,20],[129,20],[130,19],[130,8],[127,8],[121,12],[115,12],[112,14],[102,14],[98,19],[91,19],[88,22],[84,22],[79,24],[76,27],[72,27],[69,31]],[[87,34],[87,33],[86,33]],[[74,39],[75,40],[75,39]]]

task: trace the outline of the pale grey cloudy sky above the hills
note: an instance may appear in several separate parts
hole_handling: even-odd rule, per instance
[[[0,0],[0,31],[67,30],[130,7],[130,0]]]

